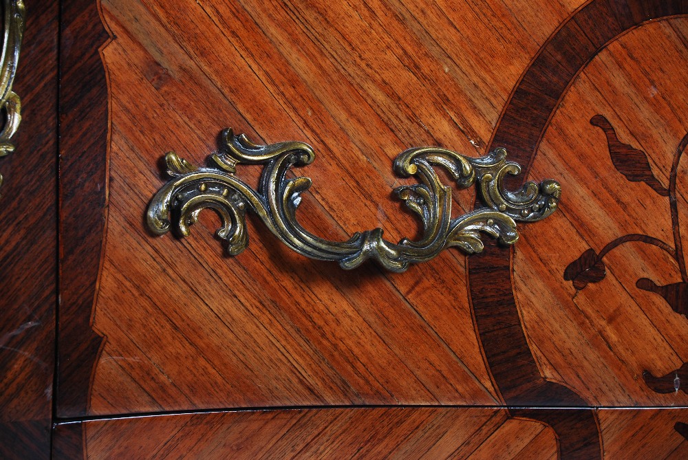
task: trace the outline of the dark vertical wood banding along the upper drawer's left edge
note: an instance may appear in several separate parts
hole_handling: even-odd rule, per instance
[[[103,338],[92,329],[107,212],[108,93],[98,44],[109,34],[95,1],[62,3],[60,305],[57,415],[86,415]],[[96,46],[85,46],[93,43]]]

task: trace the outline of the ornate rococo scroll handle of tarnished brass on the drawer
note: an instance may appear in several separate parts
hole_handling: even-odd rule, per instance
[[[420,241],[402,239],[394,244],[383,239],[376,228],[356,232],[347,241],[327,241],[305,230],[296,218],[301,193],[308,190],[308,177],[287,179],[292,166],[305,166],[314,158],[310,145],[279,142],[258,145],[246,135],[222,133],[222,149],[212,156],[213,166],[197,168],[175,153],[167,153],[167,173],[171,179],[151,200],[147,211],[149,228],[165,234],[172,223],[182,236],[198,219],[200,211],[212,208],[222,218],[217,236],[226,241],[230,255],[248,245],[246,210],[252,210],[283,243],[292,250],[325,261],[338,261],[351,269],[366,259],[374,259],[393,272],[405,271],[409,263],[429,261],[444,248],[458,246],[469,254],[481,252],[480,232],[499,243],[518,239],[516,221],[539,221],[557,209],[561,187],[553,180],[526,183],[516,192],[504,188],[504,177],[521,168],[506,161],[506,151],[496,149],[479,158],[465,157],[436,147],[420,147],[402,152],[394,160],[394,171],[402,177],[416,177],[419,184],[394,190],[423,223]],[[264,164],[257,190],[237,177],[237,164]],[[476,185],[477,197],[485,207],[451,218],[451,188],[444,186],[433,169],[442,166],[459,188]]]

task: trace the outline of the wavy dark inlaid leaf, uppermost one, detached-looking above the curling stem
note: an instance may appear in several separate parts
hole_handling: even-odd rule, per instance
[[[625,175],[631,182],[645,182],[652,190],[663,197],[669,196],[669,190],[665,188],[652,174],[652,168],[647,161],[647,155],[642,150],[634,149],[629,144],[624,144],[616,137],[616,131],[612,124],[601,115],[590,119],[590,124],[604,131],[607,138],[609,155],[612,157],[614,168]]]

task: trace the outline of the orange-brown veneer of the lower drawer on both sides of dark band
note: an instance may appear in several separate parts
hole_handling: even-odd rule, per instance
[[[577,411],[559,415],[563,420]],[[599,410],[601,458],[684,458],[688,441],[674,425],[687,417],[687,409]],[[89,460],[566,458],[557,457],[560,441],[552,428],[509,419],[497,408],[255,410],[85,421],[57,430],[74,437],[83,431]]]

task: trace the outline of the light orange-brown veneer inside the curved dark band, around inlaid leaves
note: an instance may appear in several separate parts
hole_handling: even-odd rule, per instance
[[[556,174],[569,193],[551,226],[524,228],[513,265],[516,296],[546,376],[566,382],[593,405],[688,403],[685,392],[674,391],[674,375],[665,395],[642,378],[644,371],[665,375],[688,361],[685,316],[636,286],[641,278],[660,285],[681,280],[671,254],[646,242],[651,237],[674,247],[669,198],[617,171],[604,131],[590,121],[598,114],[608,118],[622,142],[646,153],[666,187],[676,148],[688,133],[688,106],[676,98],[688,91],[680,70],[688,65],[687,28],[685,18],[643,25],[596,56],[561,101],[531,169],[535,177]],[[685,192],[679,186],[677,193],[682,206]],[[600,281],[577,288],[563,276],[586,250],[600,253],[632,234],[644,240],[608,252]],[[570,250],[543,244],[555,239]]]

